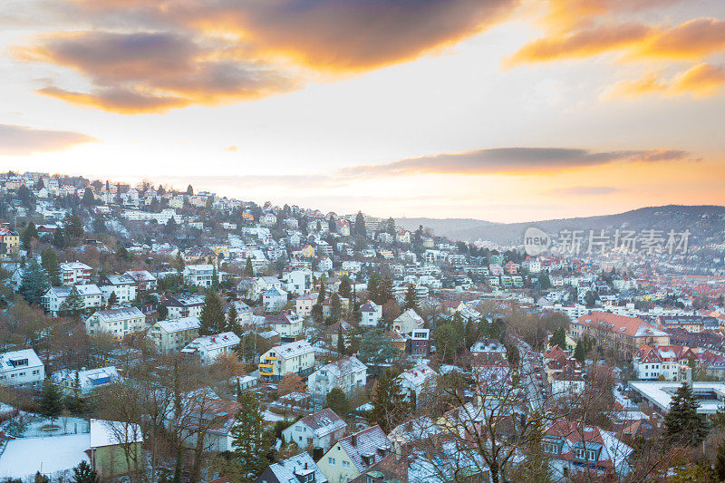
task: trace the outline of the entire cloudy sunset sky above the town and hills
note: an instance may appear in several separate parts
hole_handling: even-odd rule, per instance
[[[3,0],[0,168],[378,216],[723,204],[722,0]]]

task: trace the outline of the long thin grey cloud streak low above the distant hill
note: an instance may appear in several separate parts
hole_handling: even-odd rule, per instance
[[[595,152],[568,148],[498,148],[456,154],[402,159],[387,164],[341,169],[348,177],[403,176],[409,174],[490,174],[555,171],[608,164],[616,161],[686,159],[680,150],[623,150]]]

